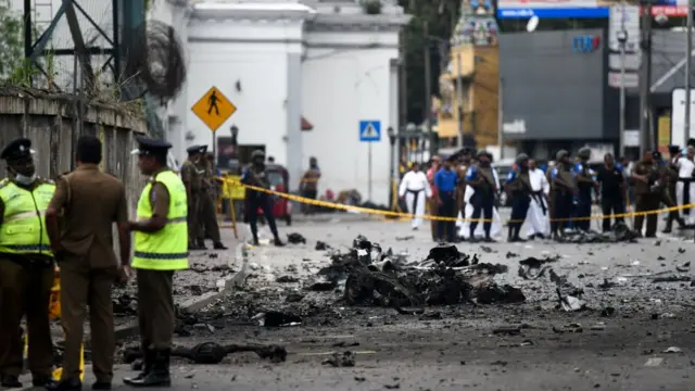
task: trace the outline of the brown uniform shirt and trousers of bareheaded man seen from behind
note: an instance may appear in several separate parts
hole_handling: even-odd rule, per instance
[[[98,381],[113,377],[114,326],[111,290],[118,277],[113,224],[128,220],[123,181],[83,164],[56,182],[50,207],[63,211],[61,321],[65,331],[63,379],[79,378],[84,321],[89,306],[92,363]]]

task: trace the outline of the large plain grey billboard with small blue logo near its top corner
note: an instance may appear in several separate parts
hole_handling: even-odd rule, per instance
[[[604,37],[601,29],[500,36],[505,139],[606,138],[606,48],[592,43],[603,41]],[[576,41],[580,45],[577,49]]]

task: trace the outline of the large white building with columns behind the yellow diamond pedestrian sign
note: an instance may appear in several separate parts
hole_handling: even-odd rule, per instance
[[[174,25],[188,42],[187,86],[168,111],[177,157],[185,159],[190,144],[212,144],[213,134],[191,106],[214,86],[238,108],[218,137],[229,137],[236,125],[241,147],[264,147],[287,166],[291,189],[316,156],[321,193],[357,189],[366,200],[369,143],[359,141],[359,122],[378,121],[371,198],[388,203],[387,129],[397,128],[395,64],[399,33],[408,22],[390,3],[367,15],[356,0],[199,1],[185,9],[156,2],[151,17]],[[312,130],[301,130],[302,117]]]

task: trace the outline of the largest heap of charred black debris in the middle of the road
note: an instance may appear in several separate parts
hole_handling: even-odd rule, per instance
[[[408,262],[405,255],[382,251],[378,243],[358,236],[348,252],[330,256],[331,265],[318,275],[344,287],[342,300],[348,305],[389,306],[409,313],[428,305],[526,300],[518,288],[494,281],[496,274],[507,272],[506,266],[480,263],[477,254],[460,253],[455,245],[438,245],[426,260]]]

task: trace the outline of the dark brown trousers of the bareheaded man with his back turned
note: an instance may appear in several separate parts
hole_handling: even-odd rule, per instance
[[[61,323],[65,332],[63,379],[79,378],[79,351],[89,306],[92,369],[98,381],[113,378],[115,337],[111,288],[116,267],[90,268],[86,257],[66,256],[61,262]]]

